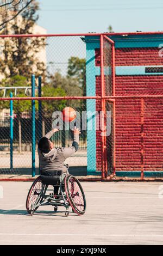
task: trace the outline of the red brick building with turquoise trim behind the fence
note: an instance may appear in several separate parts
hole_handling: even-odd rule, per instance
[[[160,34],[112,35],[115,42],[115,95],[162,95],[163,57]],[[100,42],[97,36],[86,36],[86,92],[87,96],[101,96]],[[107,45],[108,44],[108,45]],[[105,95],[112,95],[111,54],[109,43],[104,46]],[[160,97],[146,98],[141,124],[141,99],[116,99],[116,172],[134,175],[140,172],[143,161],[146,172],[163,169],[163,120]],[[98,100],[87,102],[87,111],[101,111]],[[111,106],[110,106],[111,109]],[[106,110],[109,110],[109,108]],[[96,122],[96,117],[95,120]],[[143,129],[143,160],[141,158]],[[101,131],[87,131],[87,173],[102,170]],[[112,172],[114,142],[106,141],[108,172]],[[126,173],[128,172],[128,174]]]

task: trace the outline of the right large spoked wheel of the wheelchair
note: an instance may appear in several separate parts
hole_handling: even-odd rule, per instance
[[[65,178],[65,192],[73,212],[83,215],[86,210],[86,200],[79,180],[72,175],[67,175]]]

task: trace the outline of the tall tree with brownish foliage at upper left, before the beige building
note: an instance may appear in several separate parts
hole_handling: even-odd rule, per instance
[[[20,3],[21,4],[21,3]],[[33,34],[34,26],[39,16],[37,10],[39,4],[34,0],[30,8],[24,10],[21,16],[15,17],[5,28],[9,34]],[[36,76],[45,77],[45,38],[5,38],[0,40],[2,58],[0,59],[0,72],[4,77],[20,75],[30,80],[32,71]],[[42,52],[42,59],[41,59]]]

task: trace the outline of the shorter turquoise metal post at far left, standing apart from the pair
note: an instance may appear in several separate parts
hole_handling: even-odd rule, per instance
[[[10,93],[12,97],[12,93]],[[13,168],[13,101],[10,100],[10,170]]]

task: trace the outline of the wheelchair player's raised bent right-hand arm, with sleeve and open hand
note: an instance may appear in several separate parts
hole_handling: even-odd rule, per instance
[[[68,148],[63,148],[63,153],[64,153],[65,159],[67,157],[71,156],[72,154],[74,154],[78,150],[78,147],[79,147],[80,131],[78,128],[75,127],[73,132],[74,132],[74,138],[73,138],[72,146],[70,146]]]

